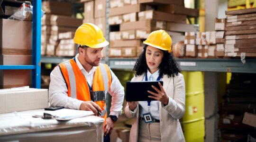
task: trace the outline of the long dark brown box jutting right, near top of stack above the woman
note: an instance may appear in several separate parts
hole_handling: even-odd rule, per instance
[[[199,10],[198,9],[188,9],[183,6],[177,6],[174,4],[170,5],[160,5],[157,6],[157,9],[162,12],[171,13],[171,14],[181,14],[189,17],[198,17]]]

